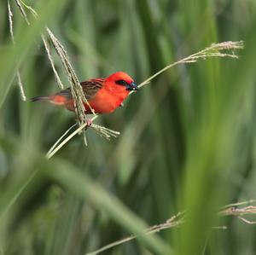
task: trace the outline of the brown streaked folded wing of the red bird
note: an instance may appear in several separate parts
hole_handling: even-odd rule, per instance
[[[100,90],[103,86],[103,78],[94,78],[84,82],[81,82],[82,89],[84,91],[84,96],[87,100],[90,100],[93,96],[96,95],[97,91]],[[67,88],[66,90],[61,90],[55,95],[65,96],[67,99],[72,99],[71,89]]]

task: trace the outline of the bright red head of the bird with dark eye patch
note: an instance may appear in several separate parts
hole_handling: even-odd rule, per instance
[[[137,84],[125,72],[114,72],[106,78],[106,84],[108,84],[109,89],[113,89],[116,92],[129,94],[129,91],[138,90]]]

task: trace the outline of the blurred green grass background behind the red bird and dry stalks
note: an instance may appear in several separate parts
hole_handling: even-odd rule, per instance
[[[40,18],[26,9],[30,26],[10,3],[15,48],[0,3],[0,254],[85,254],[183,210],[183,226],[102,254],[255,254],[256,228],[216,212],[256,198],[256,1],[31,0]],[[88,130],[87,148],[75,136],[47,160],[75,120],[29,101],[59,90],[40,40],[45,25],[81,81],[124,71],[139,84],[211,43],[244,40],[245,49],[239,60],[172,68],[96,119],[117,139]],[[219,225],[228,229],[212,229]]]

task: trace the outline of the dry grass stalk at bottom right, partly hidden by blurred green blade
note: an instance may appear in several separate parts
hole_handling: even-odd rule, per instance
[[[245,216],[250,215],[250,216],[255,216],[256,215],[256,206],[252,206],[252,204],[255,203],[255,200],[249,200],[249,201],[244,201],[244,202],[238,202],[236,204],[230,204],[223,206],[219,212],[218,216],[223,217],[223,216],[234,216],[238,219],[240,219],[243,223],[247,224],[256,224],[256,221],[250,221],[248,220]],[[251,206],[245,206],[238,208],[237,206],[245,205],[245,204],[250,204]],[[160,223],[157,225],[154,225],[150,227],[149,229],[145,230],[144,235],[151,235],[158,233],[164,229],[172,229],[175,227],[178,227],[182,225],[185,222],[185,212],[178,212],[177,215],[174,215],[170,217],[169,219],[166,220],[165,223]],[[226,226],[214,226],[212,229],[227,229]],[[113,241],[112,243],[109,243],[106,246],[102,246],[101,248],[97,249],[94,252],[88,252],[85,255],[96,255],[101,252],[105,252],[115,246],[119,246],[121,244],[124,244],[128,241],[132,241],[137,239],[139,236],[138,235],[130,235],[128,237],[125,237],[119,241]]]

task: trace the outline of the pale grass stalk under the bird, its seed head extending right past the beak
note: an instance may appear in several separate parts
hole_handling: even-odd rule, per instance
[[[206,49],[202,49],[201,51],[196,52],[195,54],[189,55],[179,61],[176,61],[164,68],[162,68],[159,72],[155,72],[152,76],[149,78],[145,79],[141,84],[138,85],[139,88],[143,87],[146,84],[149,84],[150,81],[157,76],[159,76],[162,72],[166,72],[168,69],[175,67],[180,64],[188,64],[188,63],[195,63],[196,61],[203,59],[206,60],[207,58],[210,57],[230,57],[230,58],[238,58],[238,55],[235,54],[234,50],[236,49],[243,49],[244,43],[242,41],[237,41],[237,42],[222,42],[222,43],[212,43],[211,46],[207,47]],[[232,54],[229,53],[229,51],[232,50]],[[130,94],[132,94],[134,91],[131,91]],[[94,119],[96,119],[98,115],[95,116]],[[81,127],[85,125],[81,125],[78,130],[81,130]],[[50,156],[49,153],[48,159],[51,158],[62,146],[65,145],[66,142],[68,142],[73,136],[75,136],[78,133],[78,130],[74,130],[72,134],[67,136],[67,138],[61,142],[60,146],[55,148],[54,151],[51,152]]]

